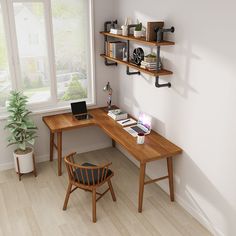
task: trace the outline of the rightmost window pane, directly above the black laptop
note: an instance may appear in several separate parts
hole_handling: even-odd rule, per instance
[[[88,78],[91,77],[88,2],[52,0],[57,92],[60,101],[88,98]]]

